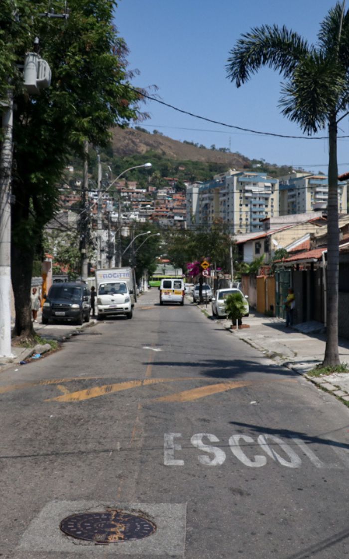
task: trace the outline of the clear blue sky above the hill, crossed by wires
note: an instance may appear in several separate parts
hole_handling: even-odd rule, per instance
[[[280,77],[262,69],[237,89],[227,79],[229,51],[238,37],[263,23],[286,25],[315,42],[334,0],[121,0],[114,21],[130,54],[135,86],[157,86],[160,100],[216,121],[248,129],[302,135],[280,115]],[[347,6],[348,7],[348,6]],[[151,92],[150,92],[151,94]],[[326,140],[268,138],[228,130],[148,101],[140,126],[176,140],[231,147],[248,158],[327,173]],[[349,134],[349,119],[339,134]],[[324,130],[321,136],[326,136]],[[338,141],[338,172],[349,171],[349,138]]]

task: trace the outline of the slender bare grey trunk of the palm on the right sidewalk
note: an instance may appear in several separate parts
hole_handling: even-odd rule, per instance
[[[327,271],[326,271],[326,349],[323,366],[340,364],[338,355],[338,193],[337,193],[337,123],[336,115],[330,115],[328,123],[328,201],[327,201]]]

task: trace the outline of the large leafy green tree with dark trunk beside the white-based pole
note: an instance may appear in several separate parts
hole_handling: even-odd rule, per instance
[[[106,146],[108,129],[137,115],[139,95],[127,86],[126,46],[113,27],[113,0],[70,0],[67,21],[40,17],[47,2],[17,0],[2,5],[0,94],[13,78],[14,171],[12,191],[12,285],[17,335],[32,335],[30,286],[42,230],[54,215],[59,183],[71,153],[83,155],[83,142]],[[63,6],[63,2],[58,2]],[[4,8],[4,9],[3,9]],[[16,23],[13,23],[15,21]],[[40,54],[52,69],[51,87],[28,96],[16,63],[23,62],[40,37]],[[1,43],[2,41],[2,43]],[[7,70],[10,70],[9,72]]]

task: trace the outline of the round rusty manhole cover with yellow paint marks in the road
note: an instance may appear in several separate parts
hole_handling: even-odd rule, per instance
[[[73,514],[61,521],[60,529],[74,538],[112,543],[145,538],[155,532],[156,526],[135,514],[111,510],[105,513]]]

